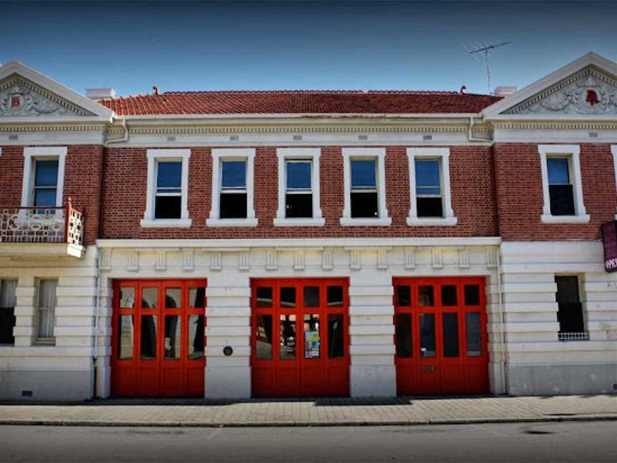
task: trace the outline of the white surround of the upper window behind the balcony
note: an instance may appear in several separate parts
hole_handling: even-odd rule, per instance
[[[51,161],[54,159],[58,159],[56,207],[62,206],[64,195],[64,164],[66,163],[66,154],[68,151],[68,146],[26,146],[26,148],[24,148],[24,178],[21,181],[21,207],[34,206],[34,161]]]

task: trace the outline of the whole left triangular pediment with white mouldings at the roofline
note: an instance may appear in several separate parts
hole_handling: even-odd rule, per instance
[[[21,76],[0,82],[0,117],[94,115]]]

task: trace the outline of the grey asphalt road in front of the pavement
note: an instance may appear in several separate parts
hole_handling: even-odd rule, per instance
[[[0,462],[616,462],[617,422],[0,427]]]

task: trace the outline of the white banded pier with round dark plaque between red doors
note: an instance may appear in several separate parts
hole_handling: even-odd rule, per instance
[[[223,268],[206,289],[206,394],[208,399],[251,397],[251,282],[248,272]],[[233,349],[224,354],[226,346]]]

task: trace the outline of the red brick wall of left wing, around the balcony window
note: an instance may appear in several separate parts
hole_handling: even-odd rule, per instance
[[[1,146],[0,209],[21,205],[24,178],[24,146]],[[69,146],[64,166],[64,199],[71,197],[73,206],[84,212],[84,243],[94,244],[99,229],[103,146]]]

